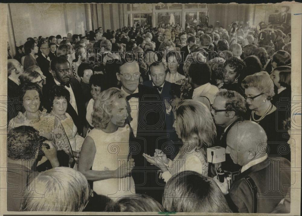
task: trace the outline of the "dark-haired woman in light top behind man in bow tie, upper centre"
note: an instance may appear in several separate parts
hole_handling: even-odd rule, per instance
[[[165,58],[168,66],[166,81],[175,83],[180,79],[185,79],[186,77],[179,73],[179,65],[181,62],[180,52],[174,50],[169,51]]]

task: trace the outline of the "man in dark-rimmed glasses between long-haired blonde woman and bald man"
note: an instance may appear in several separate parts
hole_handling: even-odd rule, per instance
[[[244,98],[236,91],[220,90],[211,105],[211,113],[214,117],[215,124],[220,126],[222,130],[217,133],[216,145],[226,148],[226,136],[232,126],[243,120],[246,112],[246,102]],[[222,168],[227,171],[238,171],[239,165],[233,163],[230,155],[226,155],[226,161],[223,162]]]

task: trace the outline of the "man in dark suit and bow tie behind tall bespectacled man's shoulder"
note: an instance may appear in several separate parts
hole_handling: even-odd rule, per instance
[[[151,79],[143,83],[143,85],[149,86],[150,88],[156,89],[161,97],[161,100],[165,104],[165,124],[167,133],[169,134],[168,139],[171,141],[178,141],[178,136],[174,131],[174,113],[171,106],[173,96],[170,94],[171,82],[165,81],[168,70],[165,68],[164,63],[153,62],[149,66],[149,74]]]

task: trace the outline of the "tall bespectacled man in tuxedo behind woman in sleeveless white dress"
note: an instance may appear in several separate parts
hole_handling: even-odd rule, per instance
[[[128,100],[128,127],[130,128],[129,153],[135,161],[132,177],[135,190],[161,202],[165,183],[158,179],[159,168],[147,163],[143,153],[154,154],[162,149],[165,131],[165,106],[158,90],[139,85],[140,68],[137,62],[116,62],[117,80]]]

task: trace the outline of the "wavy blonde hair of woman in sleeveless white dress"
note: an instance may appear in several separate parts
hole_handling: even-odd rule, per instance
[[[113,102],[120,98],[125,98],[125,95],[118,88],[109,88],[98,95],[94,102],[92,113],[92,124],[95,128],[104,129],[107,127],[112,118]]]

